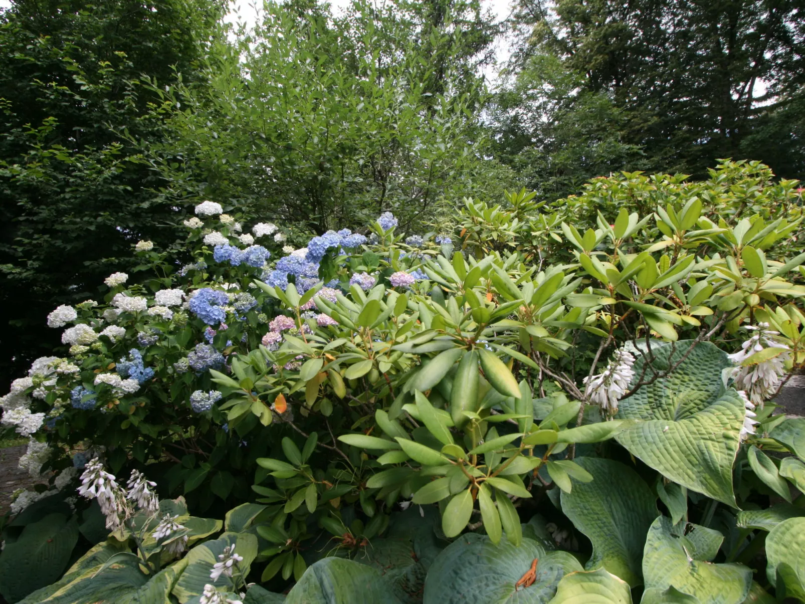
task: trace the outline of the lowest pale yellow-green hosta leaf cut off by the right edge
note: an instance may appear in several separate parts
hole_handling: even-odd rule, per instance
[[[805,518],[783,520],[766,537],[766,577],[780,594],[805,602]]]

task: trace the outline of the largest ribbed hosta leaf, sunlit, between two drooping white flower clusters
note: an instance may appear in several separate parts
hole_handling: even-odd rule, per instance
[[[673,482],[737,507],[733,462],[740,445],[744,404],[726,388],[721,371],[731,366],[725,352],[709,342],[689,350],[691,341],[654,350],[655,370],[667,370],[688,352],[667,377],[621,400],[617,417],[642,420],[616,436],[621,445]],[[634,363],[637,380],[644,359]],[[650,377],[650,371],[646,373]]]

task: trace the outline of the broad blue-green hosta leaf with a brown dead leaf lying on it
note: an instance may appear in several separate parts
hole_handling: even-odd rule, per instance
[[[533,585],[517,582],[537,561]],[[546,604],[568,573],[582,570],[568,552],[546,552],[536,541],[519,547],[503,538],[468,533],[453,541],[431,565],[425,579],[423,604]]]

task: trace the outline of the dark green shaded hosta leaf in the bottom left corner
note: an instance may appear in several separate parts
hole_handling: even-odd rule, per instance
[[[57,581],[78,541],[78,521],[49,514],[27,524],[19,538],[6,542],[0,554],[0,593],[17,602],[34,590]]]

